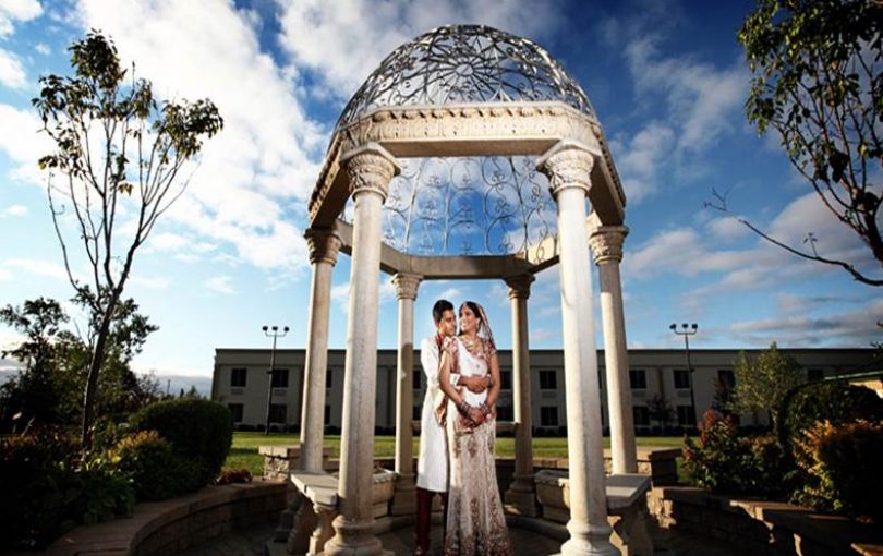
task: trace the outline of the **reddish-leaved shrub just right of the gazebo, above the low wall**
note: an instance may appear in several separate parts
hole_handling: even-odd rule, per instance
[[[687,439],[684,466],[697,485],[718,493],[777,494],[785,474],[775,438],[740,436],[731,415],[709,410],[699,443]]]

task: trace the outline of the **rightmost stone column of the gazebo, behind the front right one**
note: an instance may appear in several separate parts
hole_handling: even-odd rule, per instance
[[[626,318],[619,262],[625,226],[601,226],[589,235],[601,277],[601,321],[604,325],[604,362],[607,370],[607,408],[610,413],[610,451],[614,473],[637,473],[634,416],[631,411],[629,354],[626,347]]]

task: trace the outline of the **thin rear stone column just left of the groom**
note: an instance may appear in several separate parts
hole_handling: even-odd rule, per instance
[[[421,277],[399,273],[392,277],[399,299],[399,356],[396,370],[396,493],[392,497],[394,516],[416,511],[416,482],[411,438],[414,413],[414,300]]]

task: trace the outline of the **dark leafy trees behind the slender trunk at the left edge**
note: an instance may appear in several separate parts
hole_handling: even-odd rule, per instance
[[[157,330],[137,309],[131,299],[121,301],[110,326],[100,380],[104,396],[97,414],[114,421],[159,395],[155,378],[137,376],[130,367],[147,336]],[[63,328],[69,316],[52,299],[7,305],[0,309],[0,322],[25,337],[21,345],[3,352],[25,366],[0,386],[0,432],[21,431],[26,423],[73,425],[82,409],[78,392],[85,387],[92,359],[88,342]]]

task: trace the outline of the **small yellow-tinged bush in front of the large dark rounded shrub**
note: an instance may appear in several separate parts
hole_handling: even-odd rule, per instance
[[[121,439],[111,450],[119,467],[132,478],[138,500],[162,500],[193,489],[195,473],[171,444],[156,431],[141,431]]]

